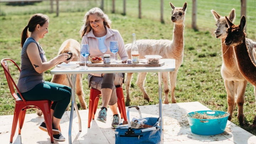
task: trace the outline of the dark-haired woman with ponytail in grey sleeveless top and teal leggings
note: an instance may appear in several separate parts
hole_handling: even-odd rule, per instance
[[[47,61],[45,52],[39,44],[39,39],[48,33],[49,17],[44,14],[34,14],[21,33],[21,72],[18,79],[18,89],[26,100],[50,100],[53,138],[64,141],[60,133],[60,119],[70,103],[71,89],[68,86],[43,80],[43,73],[60,62],[69,63],[69,54],[60,54]],[[20,95],[17,94],[19,97]],[[45,122],[39,126],[47,132]]]

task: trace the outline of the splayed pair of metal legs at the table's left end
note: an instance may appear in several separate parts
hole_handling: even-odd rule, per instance
[[[79,114],[78,107],[77,107],[76,102],[75,102],[75,82],[76,82],[76,74],[72,74],[72,75],[71,75],[71,78],[70,78],[70,75],[67,74],[67,77],[68,77],[69,84],[70,84],[70,87],[71,87],[71,110],[70,110],[70,118],[69,118],[69,132],[68,132],[68,135],[69,135],[69,144],[72,144],[71,131],[72,131],[74,107],[75,107],[75,110],[76,110],[76,114],[77,114],[77,116],[78,116],[79,131],[80,131],[80,132],[82,131],[82,130],[81,130],[82,128],[81,128],[81,118],[80,118],[80,114]],[[74,85],[73,85],[73,84],[74,84]]]

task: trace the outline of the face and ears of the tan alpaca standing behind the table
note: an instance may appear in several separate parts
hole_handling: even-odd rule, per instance
[[[184,3],[183,7],[175,7],[171,2],[170,5],[172,7],[171,21],[176,24],[183,24],[185,21],[187,2]]]

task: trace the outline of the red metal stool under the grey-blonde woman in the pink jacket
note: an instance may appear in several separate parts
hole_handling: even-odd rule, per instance
[[[117,106],[121,114],[121,118],[127,121],[126,107],[124,103],[124,95],[122,86],[116,87],[117,93]],[[94,119],[95,113],[98,107],[99,97],[101,97],[101,91],[91,88],[90,89],[90,100],[89,100],[89,116],[88,116],[88,128],[91,127],[91,121]]]

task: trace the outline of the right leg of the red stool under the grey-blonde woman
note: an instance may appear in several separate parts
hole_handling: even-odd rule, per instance
[[[117,92],[117,105],[119,112],[121,110],[121,118],[123,117],[124,121],[127,121],[127,115],[126,115],[126,107],[125,107],[125,102],[124,102],[124,95],[123,95],[123,88],[118,87],[116,89]]]

